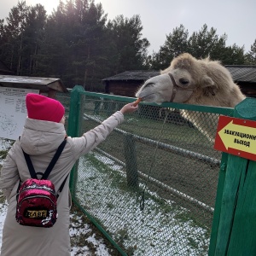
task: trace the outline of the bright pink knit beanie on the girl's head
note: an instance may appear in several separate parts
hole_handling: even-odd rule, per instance
[[[65,108],[61,102],[34,93],[26,95],[26,109],[30,119],[55,123],[59,123],[65,113]]]

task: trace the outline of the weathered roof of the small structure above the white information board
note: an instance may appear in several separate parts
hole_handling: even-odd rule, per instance
[[[36,89],[36,90],[57,90],[67,92],[66,86],[61,82],[61,79],[37,78],[37,77],[22,77],[0,75],[0,86]]]

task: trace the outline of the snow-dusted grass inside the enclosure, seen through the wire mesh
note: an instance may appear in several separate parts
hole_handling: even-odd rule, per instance
[[[195,224],[187,209],[154,192],[147,191],[150,196],[141,211],[137,194],[119,186],[126,179],[121,169],[102,154],[90,153],[79,160],[79,203],[114,241],[129,248],[131,255],[207,255],[209,230]]]

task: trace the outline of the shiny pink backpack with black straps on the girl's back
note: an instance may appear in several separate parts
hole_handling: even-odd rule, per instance
[[[22,149],[31,178],[22,184],[20,181],[17,189],[15,218],[19,224],[44,228],[52,227],[55,224],[58,217],[57,199],[66,183],[67,177],[61,183],[57,193],[55,192],[54,183],[47,180],[47,178],[59,159],[66,142],[65,139],[61,143],[44,173],[35,172],[29,154],[26,154]],[[42,175],[41,179],[38,179],[38,175]]]

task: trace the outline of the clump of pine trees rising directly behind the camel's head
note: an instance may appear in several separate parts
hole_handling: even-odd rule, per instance
[[[172,59],[184,52],[197,59],[210,57],[211,60],[221,61],[224,65],[244,64],[244,48],[236,44],[226,47],[226,40],[226,34],[219,37],[217,30],[213,27],[208,30],[206,24],[199,32],[193,32],[190,37],[188,30],[181,25],[166,37],[166,42],[160,47],[160,51],[148,58],[152,68],[156,70],[169,67]]]

